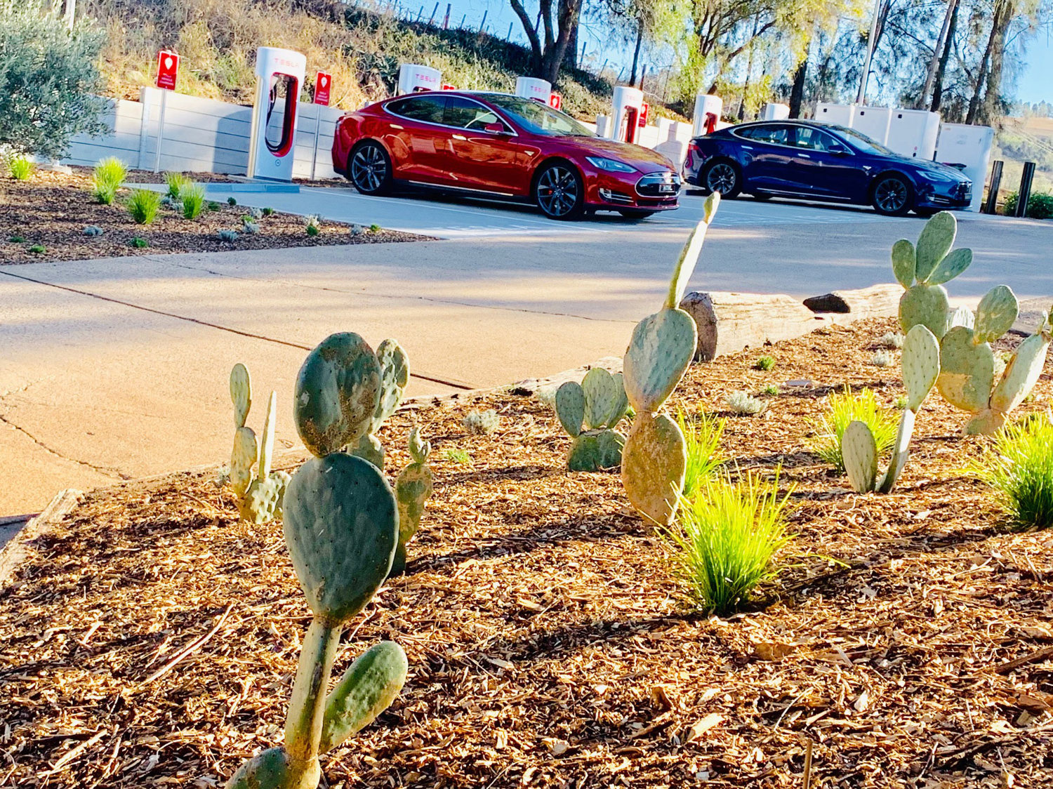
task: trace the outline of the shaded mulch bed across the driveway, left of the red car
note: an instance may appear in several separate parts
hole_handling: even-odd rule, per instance
[[[223,180],[199,178],[197,180]],[[153,173],[131,173],[130,181],[158,182]],[[161,206],[153,224],[136,224],[124,206],[131,190],[122,189],[112,205],[102,205],[92,196],[92,171],[76,167],[72,175],[38,171],[26,181],[0,178],[0,265],[35,263],[42,260],[85,260],[124,255],[158,255],[175,252],[230,252],[285,246],[321,246],[351,243],[424,240],[423,236],[397,231],[364,229],[352,235],[341,222],[323,219],[317,236],[306,234],[304,218],[275,213],[254,220],[259,233],[240,233],[243,205],[216,201],[197,219],[185,219],[181,205]],[[234,195],[235,199],[238,195]],[[84,235],[88,225],[101,228],[101,236]],[[239,231],[237,240],[224,241],[221,230]],[[147,246],[132,245],[144,238]],[[21,240],[19,240],[21,239]],[[34,246],[43,252],[34,252]]]

